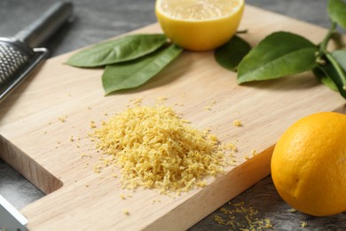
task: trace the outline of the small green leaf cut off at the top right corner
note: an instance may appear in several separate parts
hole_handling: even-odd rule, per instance
[[[346,4],[342,0],[329,0],[327,8],[329,17],[342,26],[346,28]]]

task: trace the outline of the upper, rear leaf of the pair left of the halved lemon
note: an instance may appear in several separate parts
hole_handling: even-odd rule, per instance
[[[156,51],[166,42],[166,36],[161,34],[123,36],[77,52],[67,60],[67,64],[79,68],[96,68],[135,60]]]

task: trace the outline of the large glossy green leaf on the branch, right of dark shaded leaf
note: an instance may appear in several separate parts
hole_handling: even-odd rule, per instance
[[[295,75],[316,67],[318,48],[303,36],[275,32],[240,62],[238,84]]]

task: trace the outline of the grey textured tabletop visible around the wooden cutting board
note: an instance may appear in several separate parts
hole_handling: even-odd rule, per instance
[[[0,36],[13,36],[29,22],[46,10],[53,0],[1,0],[0,1]],[[98,43],[104,39],[121,35],[132,29],[141,28],[156,21],[153,12],[154,0],[73,0],[75,20],[66,25],[46,44],[51,56],[70,52],[86,45]],[[326,15],[326,0],[248,0],[264,9],[286,14],[327,28],[329,20]],[[0,131],[1,133],[1,131]],[[1,154],[0,154],[1,156]],[[20,209],[39,198],[43,193],[28,180],[20,176],[7,163],[0,159],[0,195],[3,195],[16,208]],[[238,212],[235,230],[248,227],[249,219],[271,219],[277,230],[346,230],[346,212],[331,217],[316,218],[300,212],[289,211],[270,177],[267,177],[232,200],[232,204],[244,202],[248,214]],[[202,202],[201,202],[202,203]],[[240,206],[226,203],[227,210],[235,211]],[[251,213],[258,211],[258,213]],[[216,210],[207,218],[197,223],[192,230],[229,230],[216,223],[215,216],[227,220],[224,210]],[[307,222],[302,227],[302,221]]]

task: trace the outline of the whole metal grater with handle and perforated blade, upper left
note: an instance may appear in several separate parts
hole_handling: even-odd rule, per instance
[[[58,2],[14,37],[0,37],[0,102],[48,57],[41,45],[71,18],[72,4]]]

